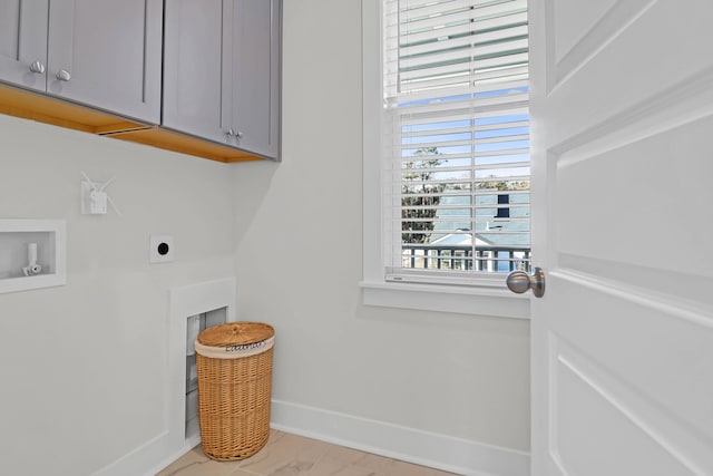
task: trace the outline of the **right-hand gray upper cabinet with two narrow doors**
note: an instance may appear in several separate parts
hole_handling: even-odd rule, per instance
[[[280,0],[167,0],[165,127],[280,158]]]

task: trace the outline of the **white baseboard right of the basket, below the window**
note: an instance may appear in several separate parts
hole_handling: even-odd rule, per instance
[[[275,429],[466,476],[529,476],[528,453],[272,400]]]

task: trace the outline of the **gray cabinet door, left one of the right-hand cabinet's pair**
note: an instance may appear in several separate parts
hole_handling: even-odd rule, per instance
[[[222,19],[223,0],[166,0],[163,125],[225,144]]]

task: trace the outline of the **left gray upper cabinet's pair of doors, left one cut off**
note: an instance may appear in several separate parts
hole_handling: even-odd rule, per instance
[[[0,13],[2,79],[158,124],[162,0],[0,0]]]

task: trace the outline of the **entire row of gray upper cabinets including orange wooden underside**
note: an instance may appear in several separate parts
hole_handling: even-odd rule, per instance
[[[0,108],[221,162],[279,161],[281,36],[282,0],[0,0],[0,82],[14,86]]]

